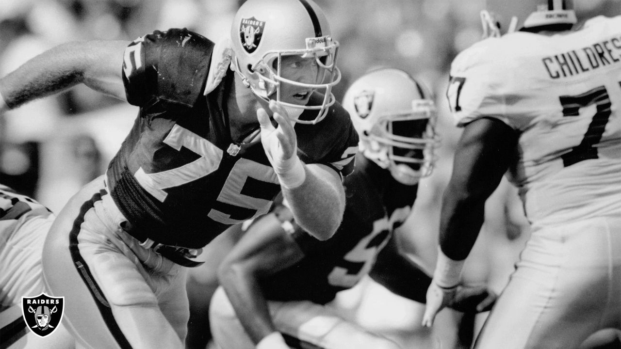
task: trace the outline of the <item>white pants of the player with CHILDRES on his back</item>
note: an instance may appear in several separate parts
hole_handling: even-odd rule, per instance
[[[474,348],[576,348],[620,326],[621,217],[597,217],[533,227]]]

